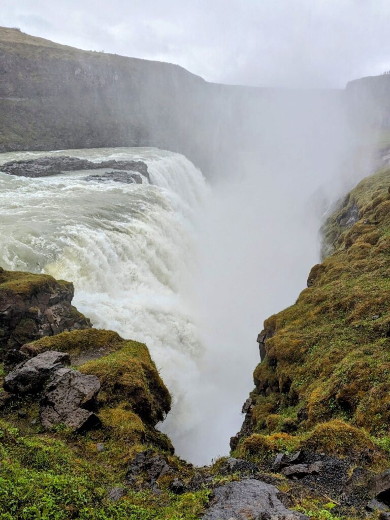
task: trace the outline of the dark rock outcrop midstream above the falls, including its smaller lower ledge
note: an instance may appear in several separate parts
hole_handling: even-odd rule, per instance
[[[90,171],[111,168],[118,172],[106,172],[103,176],[91,175],[86,180],[115,180],[118,182],[142,183],[141,175],[149,179],[148,166],[142,161],[92,162],[77,157],[41,157],[27,161],[12,161],[0,165],[0,171],[19,177],[48,177],[63,172]],[[133,180],[131,180],[133,179]]]

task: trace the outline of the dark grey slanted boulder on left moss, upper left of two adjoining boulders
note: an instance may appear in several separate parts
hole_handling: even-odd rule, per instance
[[[47,350],[43,354],[19,363],[4,379],[4,389],[12,394],[37,394],[63,365],[70,364],[69,354]]]

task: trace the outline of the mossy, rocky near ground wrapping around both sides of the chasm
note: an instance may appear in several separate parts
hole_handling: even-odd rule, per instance
[[[387,166],[324,225],[208,467],[158,431],[171,396],[146,345],[92,328],[71,283],[1,270],[0,518],[389,520],[389,191]]]

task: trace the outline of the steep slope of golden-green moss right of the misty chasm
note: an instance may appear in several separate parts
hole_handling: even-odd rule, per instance
[[[348,194],[323,226],[330,256],[296,303],[265,321],[250,411],[264,439],[241,439],[241,453],[293,420],[290,446],[354,456],[360,447],[378,460],[390,430],[389,186],[385,168]]]

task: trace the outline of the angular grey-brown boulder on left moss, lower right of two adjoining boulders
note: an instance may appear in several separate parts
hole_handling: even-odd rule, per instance
[[[69,368],[58,369],[41,400],[42,425],[49,429],[63,423],[79,432],[98,426],[100,421],[92,410],[99,389],[96,375],[82,374]]]

